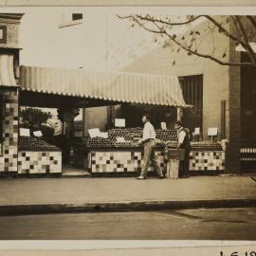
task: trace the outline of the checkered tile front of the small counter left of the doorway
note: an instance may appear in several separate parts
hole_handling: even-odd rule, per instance
[[[21,151],[18,154],[18,174],[61,174],[62,152]]]

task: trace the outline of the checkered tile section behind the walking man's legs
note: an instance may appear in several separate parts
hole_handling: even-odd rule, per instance
[[[164,153],[156,151],[158,163],[166,170]],[[92,173],[132,173],[141,170],[143,153],[140,151],[91,152],[90,167]],[[151,166],[149,172],[154,171]]]

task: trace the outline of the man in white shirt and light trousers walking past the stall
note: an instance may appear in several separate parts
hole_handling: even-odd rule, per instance
[[[164,178],[155,155],[155,129],[149,120],[149,115],[144,115],[142,117],[142,122],[144,123],[144,129],[143,137],[140,142],[144,143],[144,158],[141,174],[137,177],[137,179],[145,179],[147,177],[150,160],[153,162],[155,171],[159,178]]]

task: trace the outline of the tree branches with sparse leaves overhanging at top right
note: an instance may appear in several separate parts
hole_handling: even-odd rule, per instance
[[[119,16],[119,15],[118,15]],[[256,67],[256,56],[251,46],[255,41],[256,19],[254,16],[210,16],[210,15],[189,15],[177,16],[155,16],[133,14],[119,16],[120,19],[129,20],[131,26],[142,27],[143,29],[156,35],[155,42],[161,42],[164,47],[175,46],[178,53],[181,50],[187,52],[189,56],[198,56],[222,65],[233,66],[254,66]],[[197,25],[200,22],[207,23],[207,29],[200,31]],[[179,33],[179,30],[186,29],[186,32]],[[248,61],[233,61],[229,59],[228,47],[222,48],[219,56],[214,51],[204,52],[201,44],[208,33],[218,33],[229,38],[234,46],[240,46],[247,52]],[[172,63],[173,65],[176,63]]]

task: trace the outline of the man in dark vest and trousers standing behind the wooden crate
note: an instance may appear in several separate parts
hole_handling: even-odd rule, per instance
[[[190,139],[190,130],[182,126],[181,121],[176,121],[174,125],[175,130],[177,131],[178,136],[178,149],[185,150],[184,160],[181,162],[181,172],[179,176],[181,178],[189,177],[190,171],[190,153],[191,153],[191,139]]]

